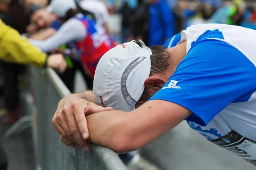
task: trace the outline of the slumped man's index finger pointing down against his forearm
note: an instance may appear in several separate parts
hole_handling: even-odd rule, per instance
[[[83,139],[88,139],[89,137],[89,130],[87,127],[87,121],[84,114],[84,106],[81,105],[73,105],[76,123],[79,127],[79,131],[83,137]]]

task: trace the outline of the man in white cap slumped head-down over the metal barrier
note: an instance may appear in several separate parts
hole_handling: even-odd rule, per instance
[[[87,139],[125,153],[186,120],[256,165],[255,39],[252,29],[200,24],[165,46],[118,45],[99,61],[93,92],[62,99],[52,123],[70,147],[88,150]]]

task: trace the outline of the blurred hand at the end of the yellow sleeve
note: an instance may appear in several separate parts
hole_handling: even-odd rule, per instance
[[[67,62],[62,54],[52,54],[49,56],[48,66],[59,73],[63,73],[67,69]]]

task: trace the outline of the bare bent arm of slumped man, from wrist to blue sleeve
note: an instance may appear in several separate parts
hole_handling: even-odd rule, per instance
[[[126,153],[171,130],[192,112],[172,102],[151,100],[131,112],[105,111],[86,116],[89,140]]]

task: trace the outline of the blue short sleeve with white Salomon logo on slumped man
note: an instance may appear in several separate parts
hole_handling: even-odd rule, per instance
[[[192,111],[186,120],[207,125],[232,102],[246,102],[256,90],[256,67],[238,49],[220,40],[196,42],[169,81],[152,99]]]

